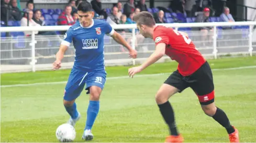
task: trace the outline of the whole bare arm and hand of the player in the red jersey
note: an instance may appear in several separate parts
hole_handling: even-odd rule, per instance
[[[128,70],[129,76],[133,77],[133,75],[135,75],[136,73],[141,72],[142,70],[149,67],[151,64],[153,64],[156,61],[158,61],[159,59],[161,59],[165,54],[165,46],[166,46],[165,43],[159,43],[155,47],[154,53],[147,59],[146,62],[142,63],[141,66],[139,66],[139,67],[133,67]]]

